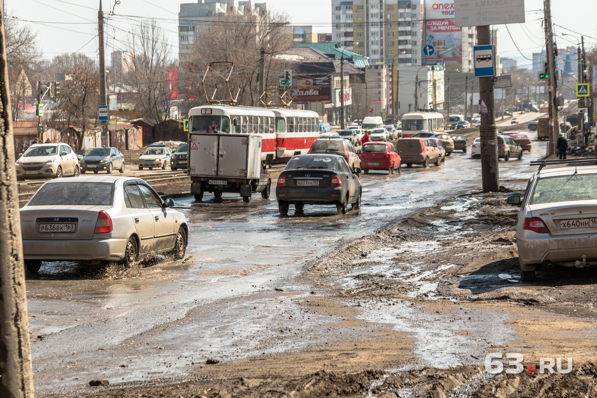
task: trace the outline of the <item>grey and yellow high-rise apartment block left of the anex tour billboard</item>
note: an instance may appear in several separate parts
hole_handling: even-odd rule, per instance
[[[421,65],[423,0],[332,0],[332,35],[371,64]]]

